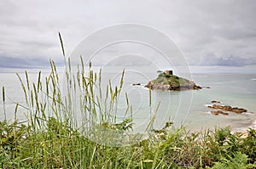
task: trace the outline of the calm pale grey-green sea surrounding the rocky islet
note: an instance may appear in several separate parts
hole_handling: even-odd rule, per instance
[[[31,81],[36,82],[37,74],[29,74]],[[48,75],[47,73],[44,76]],[[20,76],[24,74],[20,73]],[[113,84],[119,83],[120,74],[102,74],[103,81],[111,79]],[[142,78],[144,76],[144,78]],[[174,121],[175,126],[181,124],[190,130],[201,130],[214,127],[230,126],[233,130],[246,130],[247,127],[256,127],[256,75],[240,74],[193,74],[192,80],[203,87],[201,90],[181,92],[155,92],[151,94],[152,104],[149,106],[149,91],[143,87],[148,80],[154,79],[157,73],[142,75],[134,71],[125,73],[124,92],[120,95],[118,106],[118,119],[125,118],[126,100],[128,93],[129,102],[132,105],[134,118],[134,130],[143,131],[155,113],[154,128],[160,129],[166,121]],[[141,86],[133,86],[133,83],[141,83]],[[6,90],[6,112],[9,120],[14,118],[15,102],[24,104],[24,94],[15,73],[0,73],[0,87]],[[2,101],[1,94],[1,102]],[[237,106],[248,111],[241,115],[211,115],[207,104],[212,100],[218,100],[222,104]],[[4,119],[3,104],[0,104],[0,119]],[[25,110],[20,109],[18,118],[26,120]],[[131,112],[129,112],[131,114]]]

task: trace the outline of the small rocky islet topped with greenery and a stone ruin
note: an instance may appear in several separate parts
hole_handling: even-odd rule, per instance
[[[191,82],[183,77],[173,75],[172,70],[160,72],[159,76],[153,81],[148,82],[145,87],[160,91],[201,89],[201,87],[197,86],[195,82]]]

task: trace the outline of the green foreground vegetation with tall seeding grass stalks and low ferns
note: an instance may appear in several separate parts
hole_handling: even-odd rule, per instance
[[[63,48],[62,52],[65,56]],[[119,140],[132,129],[132,114],[119,122],[115,118],[123,77],[119,87],[112,87],[109,82],[102,92],[101,71],[85,71],[81,59],[73,74],[70,61],[67,64],[67,93],[61,93],[53,61],[45,82],[40,72],[38,82],[29,82],[27,73],[25,82],[18,76],[26,104],[17,104],[15,112],[20,106],[25,108],[27,121],[0,122],[0,168],[256,167],[253,129],[248,130],[247,138],[241,138],[240,133],[231,134],[229,127],[194,133],[184,127],[175,129],[168,122],[162,130],[152,130],[148,138],[139,142],[112,144],[115,137],[102,135],[102,128],[121,132]],[[4,95],[3,88],[3,104]],[[130,111],[127,99],[127,114]],[[81,121],[77,121],[78,114]],[[102,143],[96,140],[99,137],[107,138]]]

